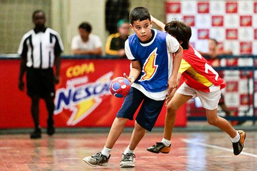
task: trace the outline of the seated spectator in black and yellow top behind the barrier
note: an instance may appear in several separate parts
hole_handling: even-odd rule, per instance
[[[117,24],[118,32],[109,35],[105,53],[107,55],[117,55],[119,58],[126,58],[124,45],[130,33],[130,24],[128,21],[122,19]]]

